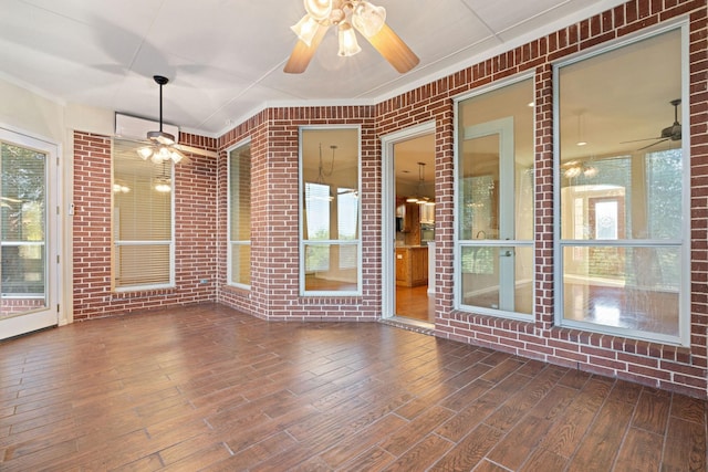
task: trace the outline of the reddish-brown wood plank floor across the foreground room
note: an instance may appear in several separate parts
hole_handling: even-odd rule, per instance
[[[706,401],[199,305],[0,343],[0,470],[705,471]]]

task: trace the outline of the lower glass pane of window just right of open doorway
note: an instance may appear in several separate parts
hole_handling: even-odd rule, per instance
[[[503,266],[508,262],[512,263],[510,271]],[[462,248],[461,303],[530,315],[533,311],[533,249]]]

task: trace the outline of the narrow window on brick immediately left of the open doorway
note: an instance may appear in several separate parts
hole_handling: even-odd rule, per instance
[[[361,293],[358,128],[302,128],[301,292]]]

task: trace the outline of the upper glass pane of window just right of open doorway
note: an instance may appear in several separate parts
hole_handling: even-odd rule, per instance
[[[533,109],[531,80],[459,103],[459,240],[533,239]]]

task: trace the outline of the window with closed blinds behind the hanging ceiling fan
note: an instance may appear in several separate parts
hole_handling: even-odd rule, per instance
[[[138,144],[113,143],[113,286],[174,285],[173,166],[138,157]]]

